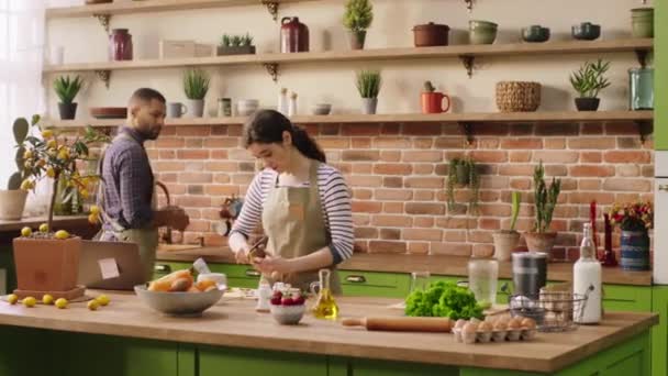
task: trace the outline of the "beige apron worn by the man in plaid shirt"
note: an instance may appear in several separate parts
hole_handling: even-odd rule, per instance
[[[119,139],[131,140],[133,142],[137,142],[132,136],[120,133],[114,141]],[[100,164],[98,167],[99,176],[102,176],[102,166],[104,164],[104,154],[105,151],[102,151],[100,155]],[[153,173],[152,173],[153,174]],[[100,180],[98,186],[98,197],[100,198],[100,206],[102,208],[102,221],[111,225],[113,230],[100,230],[100,232],[96,235],[96,240],[102,239],[105,232],[111,232],[115,239],[121,242],[131,242],[137,244],[140,248],[140,261],[142,263],[142,267],[144,269],[144,275],[146,280],[153,279],[154,265],[155,265],[155,252],[158,247],[158,229],[153,224],[147,224],[142,229],[125,229],[118,221],[109,218],[104,213],[104,180]],[[152,207],[155,208],[155,193],[153,195]]]

